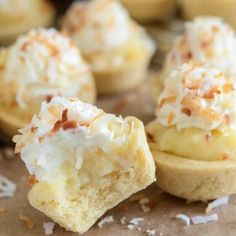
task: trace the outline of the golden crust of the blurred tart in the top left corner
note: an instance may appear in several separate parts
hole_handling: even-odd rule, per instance
[[[53,23],[55,9],[45,0],[30,0],[31,11],[16,14],[0,14],[0,44],[9,45],[23,33],[35,27],[47,27]]]

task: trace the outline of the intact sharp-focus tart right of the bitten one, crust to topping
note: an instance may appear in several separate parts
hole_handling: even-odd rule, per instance
[[[184,64],[146,127],[158,185],[191,201],[236,193],[235,86],[215,69]]]

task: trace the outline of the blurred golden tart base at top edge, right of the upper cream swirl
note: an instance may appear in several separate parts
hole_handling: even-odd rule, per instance
[[[165,21],[174,16],[176,0],[121,0],[131,17],[143,23]]]

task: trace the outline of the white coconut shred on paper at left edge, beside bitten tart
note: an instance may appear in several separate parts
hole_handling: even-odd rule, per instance
[[[0,175],[0,198],[13,197],[16,191],[16,184]]]

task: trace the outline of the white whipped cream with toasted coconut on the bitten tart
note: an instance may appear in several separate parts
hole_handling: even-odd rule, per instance
[[[20,130],[21,135],[13,138],[15,151],[38,181],[52,182],[65,163],[79,170],[85,151],[100,149],[108,153],[112,145],[126,142],[127,134],[115,134],[111,123],[120,130],[129,125],[121,117],[77,99],[55,97],[43,102],[41,111]]]

